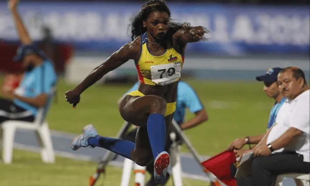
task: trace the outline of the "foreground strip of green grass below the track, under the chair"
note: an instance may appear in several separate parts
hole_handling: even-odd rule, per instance
[[[44,164],[37,153],[14,151],[12,165],[0,164],[0,186],[88,186],[96,164],[56,157],[55,164]],[[101,175],[102,176],[102,175]],[[119,186],[122,169],[107,167],[107,174],[101,177],[97,186]],[[149,177],[147,177],[149,179]],[[130,186],[133,186],[131,177]],[[207,182],[183,179],[192,186],[208,186]],[[172,186],[171,179],[168,186]]]

